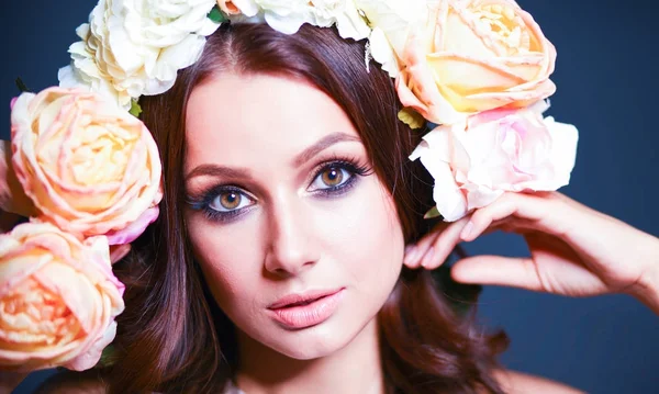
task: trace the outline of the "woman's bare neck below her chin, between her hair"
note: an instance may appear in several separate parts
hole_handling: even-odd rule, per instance
[[[343,349],[313,360],[291,359],[243,333],[238,345],[236,381],[245,394],[386,392],[376,319]]]

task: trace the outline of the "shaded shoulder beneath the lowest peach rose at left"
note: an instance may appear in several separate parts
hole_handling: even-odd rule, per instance
[[[46,380],[35,394],[105,394],[103,378],[96,371],[57,373]]]

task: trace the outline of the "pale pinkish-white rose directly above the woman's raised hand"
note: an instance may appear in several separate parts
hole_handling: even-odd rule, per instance
[[[435,179],[433,198],[445,221],[485,206],[505,191],[548,191],[569,183],[577,128],[536,106],[492,110],[424,136],[410,159]]]

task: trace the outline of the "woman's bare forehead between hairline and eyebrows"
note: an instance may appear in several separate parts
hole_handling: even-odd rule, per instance
[[[186,119],[186,169],[287,160],[334,133],[358,136],[343,109],[304,81],[223,74],[194,88]]]

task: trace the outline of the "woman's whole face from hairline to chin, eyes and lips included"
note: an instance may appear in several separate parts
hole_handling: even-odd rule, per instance
[[[187,113],[189,236],[242,337],[313,359],[375,327],[403,235],[343,110],[305,82],[224,74]]]

